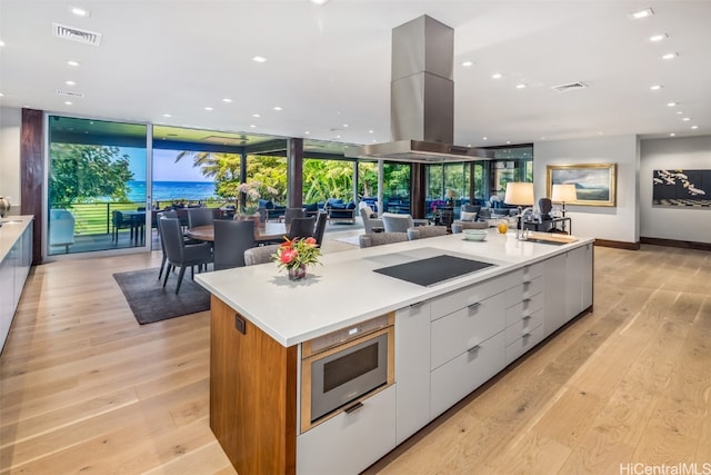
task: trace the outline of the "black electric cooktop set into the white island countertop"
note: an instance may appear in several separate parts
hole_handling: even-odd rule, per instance
[[[428,287],[491,266],[493,266],[493,264],[442,254],[440,256],[428,257],[427,259],[418,259],[373,270],[379,274],[384,274],[385,276]]]

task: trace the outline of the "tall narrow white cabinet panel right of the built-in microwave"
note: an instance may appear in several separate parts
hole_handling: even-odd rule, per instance
[[[430,308],[422,303],[395,313],[398,444],[430,422]]]

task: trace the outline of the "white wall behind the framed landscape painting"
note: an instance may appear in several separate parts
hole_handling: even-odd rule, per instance
[[[637,136],[578,140],[544,140],[533,144],[535,198],[545,196],[547,166],[617,164],[617,206],[570,206],[574,235],[622,243],[639,243],[639,169]]]

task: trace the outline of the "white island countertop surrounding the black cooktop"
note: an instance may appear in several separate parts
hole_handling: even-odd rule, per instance
[[[593,241],[578,237],[555,246],[517,240],[514,231],[487,232],[481,243],[455,234],[323,255],[323,265],[309,267],[300,281],[289,280],[287,271],[272,263],[199,274],[196,281],[288,347]],[[495,266],[430,287],[372,271],[440,254]]]

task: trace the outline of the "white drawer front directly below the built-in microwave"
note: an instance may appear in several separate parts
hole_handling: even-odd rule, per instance
[[[297,437],[298,474],[359,474],[395,446],[395,385]]]

